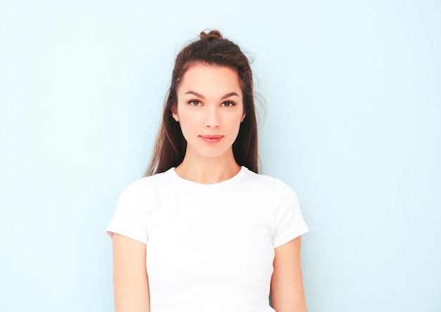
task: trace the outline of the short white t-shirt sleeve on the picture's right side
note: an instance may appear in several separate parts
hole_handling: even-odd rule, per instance
[[[286,244],[309,231],[302,217],[297,194],[279,179],[275,179],[274,189],[275,234],[274,248]]]

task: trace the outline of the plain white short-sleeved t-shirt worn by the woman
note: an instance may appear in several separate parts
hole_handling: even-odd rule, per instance
[[[151,312],[269,312],[274,248],[308,227],[278,179],[242,167],[198,184],[172,168],[125,188],[107,232],[147,245]]]

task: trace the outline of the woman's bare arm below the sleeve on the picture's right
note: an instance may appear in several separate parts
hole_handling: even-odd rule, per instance
[[[300,246],[302,236],[275,248],[271,306],[277,312],[306,312]]]

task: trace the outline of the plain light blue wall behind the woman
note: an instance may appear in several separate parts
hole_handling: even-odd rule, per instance
[[[113,311],[104,229],[204,28],[254,56],[309,311],[441,311],[440,1],[174,2],[0,0],[0,311]]]

